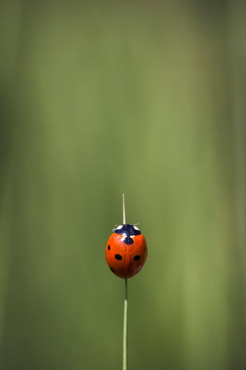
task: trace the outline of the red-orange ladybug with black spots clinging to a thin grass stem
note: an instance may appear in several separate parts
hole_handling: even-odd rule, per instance
[[[113,229],[106,245],[106,261],[110,270],[126,279],[135,276],[146,262],[148,249],[139,228],[130,223]]]

